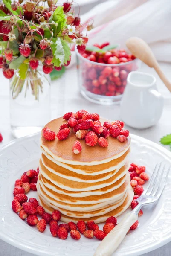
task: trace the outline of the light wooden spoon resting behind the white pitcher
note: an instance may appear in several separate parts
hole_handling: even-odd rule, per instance
[[[165,74],[162,72],[153,52],[151,51],[150,47],[144,40],[138,37],[131,37],[126,41],[126,46],[130,50],[130,52],[147,64],[149,67],[153,67],[157,74],[159,75],[160,79],[163,81],[165,86],[171,92],[171,83],[166,78]]]

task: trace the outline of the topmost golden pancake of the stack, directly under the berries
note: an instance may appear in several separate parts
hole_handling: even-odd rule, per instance
[[[46,127],[49,127],[57,134],[60,126],[64,123],[67,122],[60,117],[49,122]],[[73,129],[70,130],[70,135],[63,141],[59,141],[57,138],[53,141],[47,141],[41,136],[41,146],[43,149],[55,160],[62,163],[87,166],[99,165],[121,157],[130,147],[130,137],[125,142],[120,143],[118,139],[109,136],[107,138],[109,145],[106,148],[99,145],[90,147],[85,144],[84,140],[79,140],[82,145],[82,151],[80,154],[73,154],[72,145],[75,142],[75,133]]]

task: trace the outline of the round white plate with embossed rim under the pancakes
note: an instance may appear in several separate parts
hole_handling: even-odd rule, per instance
[[[81,236],[79,241],[60,240],[51,236],[49,228],[42,234],[30,227],[11,209],[14,181],[28,169],[37,168],[40,157],[39,134],[14,140],[0,151],[0,239],[41,256],[93,256],[99,241]],[[171,164],[171,153],[142,137],[131,135],[131,161],[145,165],[151,175],[157,162]],[[171,176],[158,204],[143,209],[139,227],[131,231],[115,256],[136,256],[157,249],[171,241]],[[29,197],[36,192],[29,192]],[[120,216],[118,218],[121,219]],[[101,225],[102,227],[102,225]]]

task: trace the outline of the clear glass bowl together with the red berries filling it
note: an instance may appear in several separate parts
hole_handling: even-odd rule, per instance
[[[110,43],[87,46],[77,56],[78,82],[84,98],[101,105],[118,104],[124,93],[127,76],[138,70],[140,60],[128,50]]]

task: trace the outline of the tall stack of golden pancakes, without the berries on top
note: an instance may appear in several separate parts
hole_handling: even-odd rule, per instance
[[[66,123],[58,118],[49,122],[55,134]],[[41,159],[37,183],[39,204],[46,212],[61,212],[65,222],[82,219],[104,222],[124,212],[133,199],[128,172],[130,137],[125,142],[108,137],[109,146],[90,147],[85,140],[80,154],[72,152],[78,140],[71,129],[66,140],[47,141],[41,136]]]

